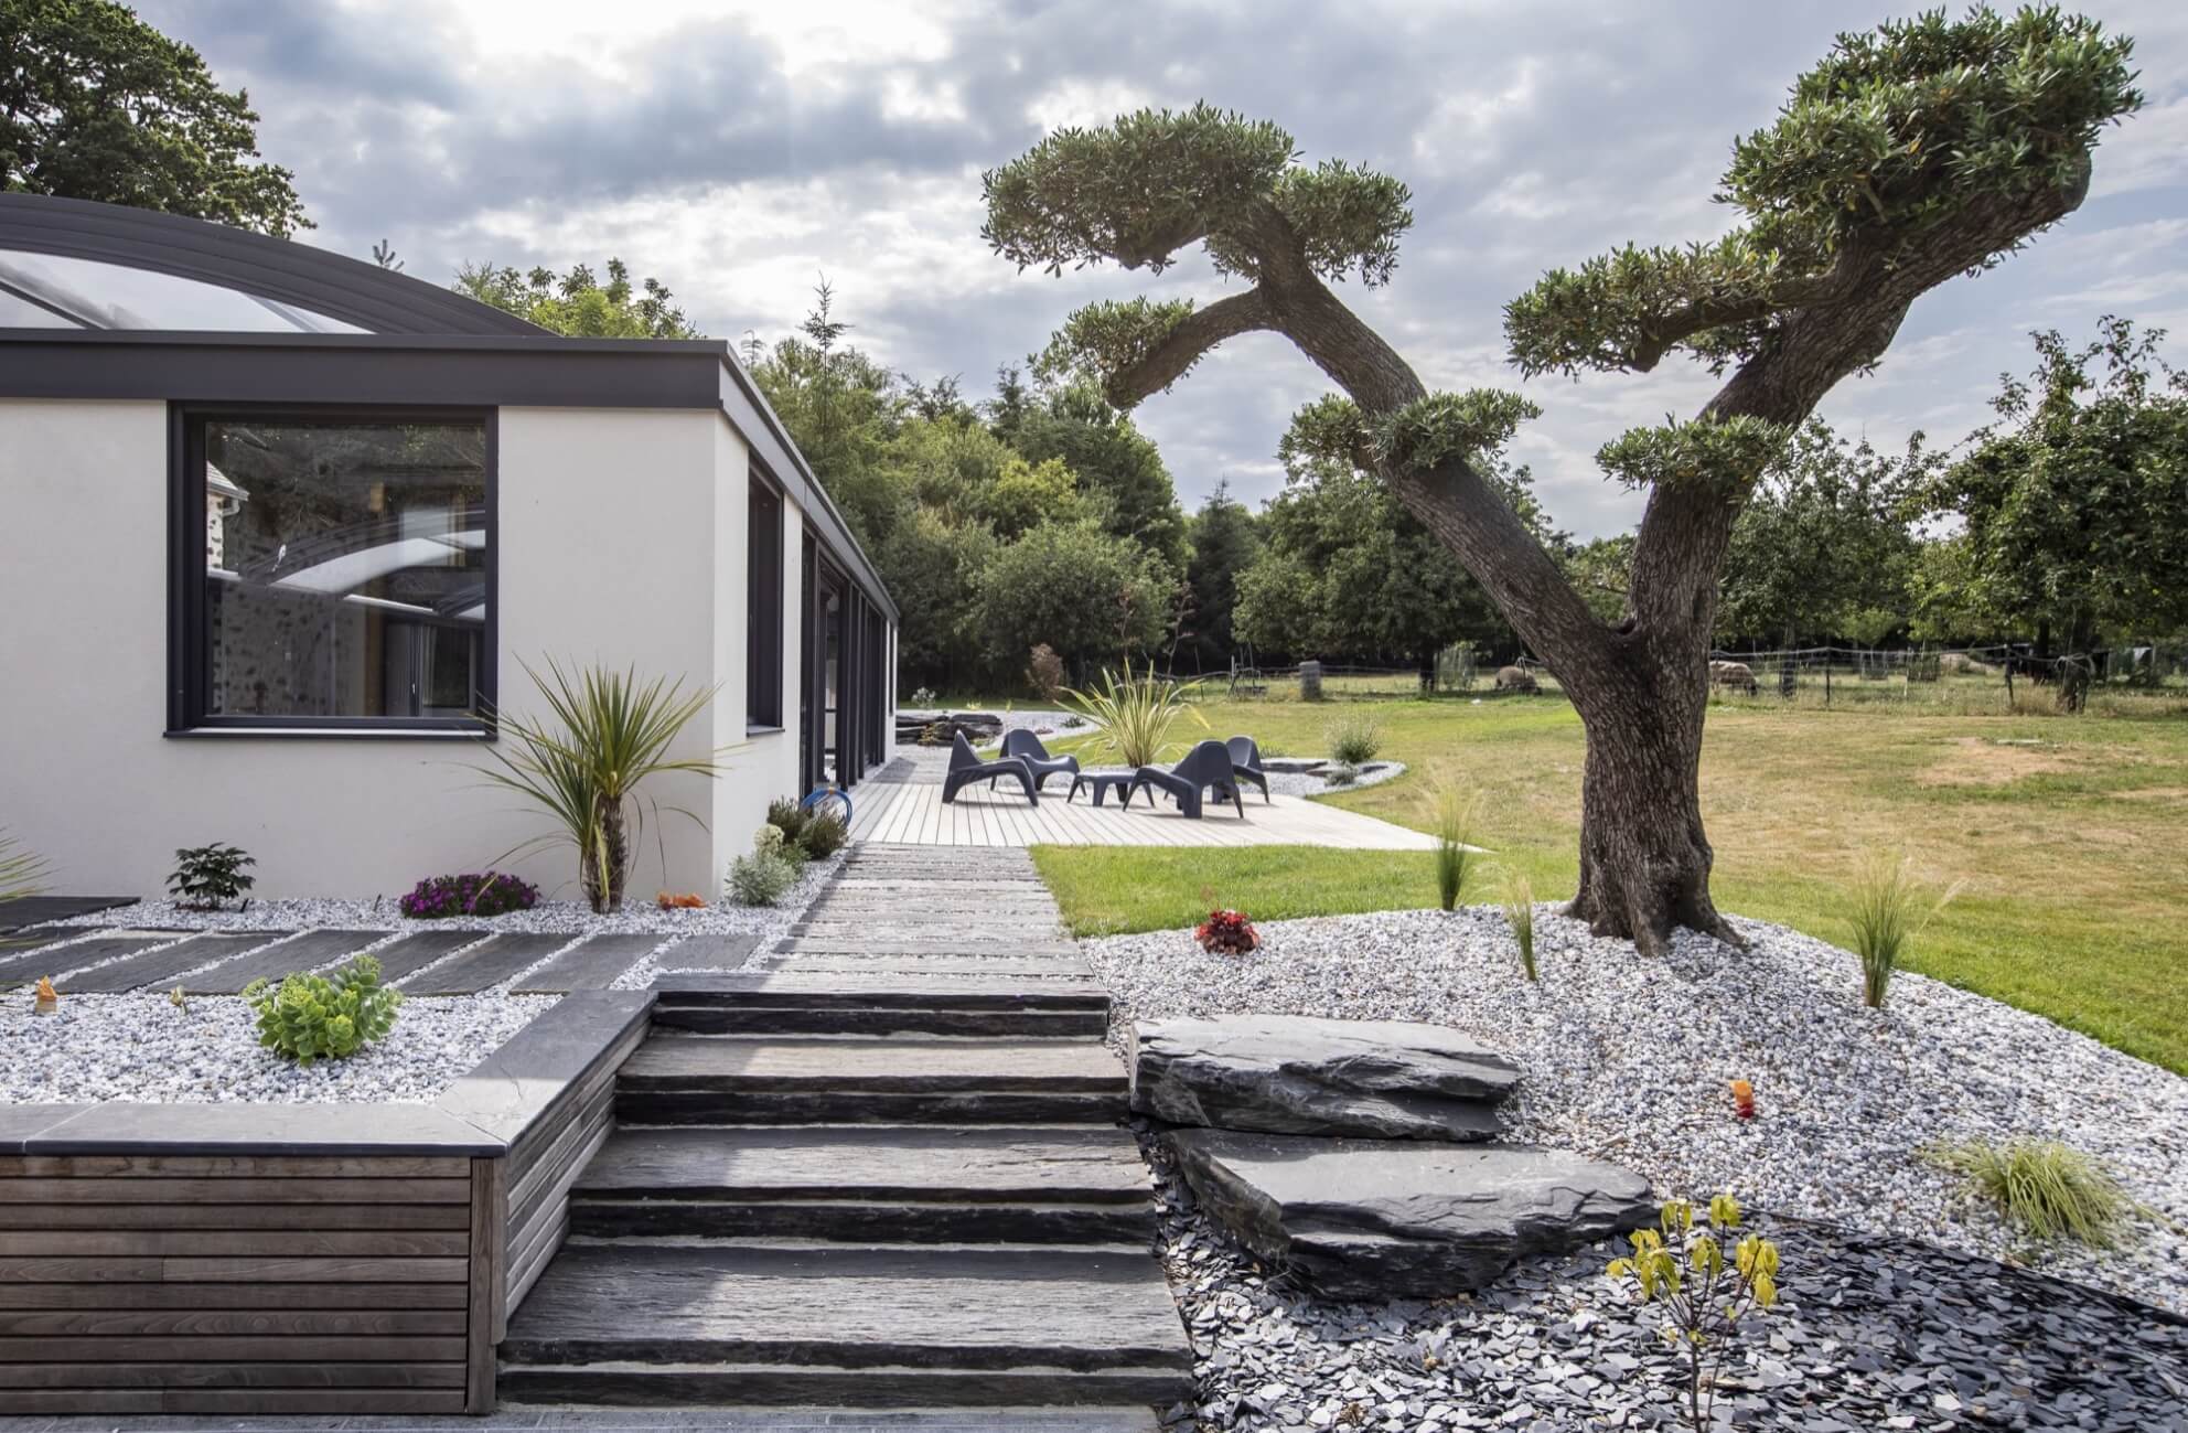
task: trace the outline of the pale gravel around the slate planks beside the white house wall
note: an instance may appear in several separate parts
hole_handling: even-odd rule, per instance
[[[131,930],[385,930],[392,943],[416,930],[567,932],[573,941],[602,932],[661,932],[665,949],[639,960],[619,989],[652,985],[676,967],[680,936],[750,932],[755,954],[768,949],[799,919],[827,875],[842,862],[812,862],[779,906],[715,904],[702,910],[661,910],[650,899],[630,901],[619,914],[597,917],[575,901],[543,901],[532,910],[475,919],[407,921],[387,899],[280,899],[252,901],[247,910],[182,910],[171,901],[140,901],[103,910],[68,925]],[[37,934],[37,930],[26,932]],[[90,936],[85,936],[90,939]],[[444,958],[455,958],[462,947]],[[538,960],[545,965],[554,954]],[[427,967],[431,969],[431,967]],[[0,998],[0,1105],[35,1103],[427,1103],[459,1074],[556,1002],[554,995],[510,995],[523,974],[477,995],[418,995],[403,1002],[394,1030],[348,1059],[302,1070],[258,1044],[256,1022],[238,995],[188,995],[188,974],[173,985],[186,1009],[168,1002],[166,987],[129,995],[61,995],[55,1015],[33,1015],[31,991]]]

